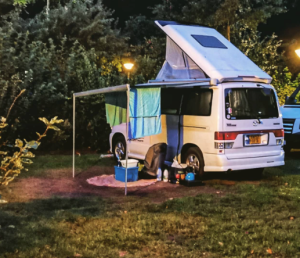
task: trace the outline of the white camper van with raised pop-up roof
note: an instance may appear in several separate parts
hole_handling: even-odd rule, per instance
[[[161,89],[161,133],[128,139],[128,156],[145,159],[156,143],[204,172],[284,165],[284,130],[271,77],[215,29],[156,21],[167,35],[166,60],[155,80],[134,87]],[[126,124],[112,127],[113,153],[125,153]]]

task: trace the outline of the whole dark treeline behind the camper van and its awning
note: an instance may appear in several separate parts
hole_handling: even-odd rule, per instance
[[[286,68],[282,42],[258,30],[270,17],[287,12],[291,1],[157,0],[152,9],[145,6],[145,15],[127,19],[118,19],[120,11],[114,13],[112,3],[101,0],[50,0],[49,10],[46,3],[0,0],[0,116],[26,89],[8,121],[8,139],[33,138],[43,126],[39,117],[59,116],[65,120],[63,131],[41,147],[67,149],[74,92],[126,83],[123,63],[129,59],[135,64],[131,84],[155,79],[165,55],[165,36],[155,19],[216,28],[273,76],[281,101],[299,80]],[[78,146],[108,149],[103,96],[80,99],[76,119]]]

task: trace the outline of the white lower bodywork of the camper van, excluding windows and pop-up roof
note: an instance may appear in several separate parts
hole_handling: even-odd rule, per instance
[[[244,132],[253,130],[275,130],[282,129],[282,117],[279,112],[278,118],[261,119],[261,124],[254,125],[255,119],[227,120],[225,115],[224,91],[227,88],[257,88],[257,84],[251,82],[223,83],[218,86],[207,87],[213,91],[210,116],[180,116],[161,115],[162,132],[158,135],[147,136],[140,139],[128,141],[128,155],[131,158],[145,159],[148,149],[156,143],[168,145],[166,159],[172,161],[178,156],[185,146],[197,146],[204,159],[204,171],[228,171],[244,170],[263,167],[274,167],[284,165],[284,151],[282,145],[277,145],[276,140],[283,137],[275,137],[274,133],[268,133],[268,144],[266,146],[244,146],[244,134],[238,134],[234,140],[232,149],[224,149],[222,152],[215,148],[215,132]],[[271,85],[263,85],[265,88],[273,89]],[[276,94],[276,93],[275,93]],[[277,104],[277,107],[279,105]],[[279,108],[278,108],[279,110]],[[126,125],[121,124],[112,128],[110,144],[116,133],[126,135]],[[180,137],[179,134],[180,133]],[[178,139],[180,139],[178,148]],[[225,142],[233,142],[225,141]],[[112,149],[111,149],[112,150]],[[177,153],[178,150],[178,153]],[[113,150],[112,150],[113,151]],[[184,160],[181,160],[185,163]]]

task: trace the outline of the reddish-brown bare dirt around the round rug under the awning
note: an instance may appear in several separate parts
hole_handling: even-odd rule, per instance
[[[45,178],[20,178],[2,189],[3,199],[9,202],[27,202],[34,199],[61,197],[99,196],[112,198],[117,202],[125,201],[124,188],[110,188],[90,185],[88,178],[103,174],[113,174],[114,169],[110,166],[94,166],[72,178],[71,169],[52,169],[46,172]],[[222,189],[222,194],[214,186],[231,186],[236,182],[226,179],[208,178],[202,186],[187,187],[183,185],[157,182],[145,187],[128,188],[128,196],[143,197],[154,203],[164,202],[170,198],[195,196],[198,194],[216,194],[223,196],[230,192]],[[259,182],[247,181],[245,183],[257,184]]]

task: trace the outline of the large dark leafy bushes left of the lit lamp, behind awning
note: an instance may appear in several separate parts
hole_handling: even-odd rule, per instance
[[[114,28],[111,14],[99,1],[66,1],[53,4],[47,17],[42,11],[23,20],[16,9],[0,18],[0,109],[26,89],[10,117],[10,139],[32,138],[34,130],[43,129],[36,117],[58,113],[66,121],[65,133],[55,133],[51,141],[67,139],[74,92],[126,81],[121,57],[126,38]],[[103,96],[80,99],[78,105],[77,143],[106,151],[109,127]],[[70,138],[60,141],[64,146],[70,143]],[[49,148],[51,142],[43,146]]]

